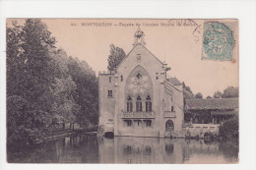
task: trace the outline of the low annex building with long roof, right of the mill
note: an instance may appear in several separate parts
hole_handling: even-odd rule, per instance
[[[192,136],[219,133],[225,120],[238,115],[238,98],[193,98],[184,105],[184,131]]]

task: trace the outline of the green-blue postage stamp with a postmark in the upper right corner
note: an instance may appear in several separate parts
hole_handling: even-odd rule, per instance
[[[204,23],[202,60],[233,61],[236,52],[237,20]]]

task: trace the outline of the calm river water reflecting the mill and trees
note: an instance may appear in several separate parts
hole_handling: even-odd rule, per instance
[[[78,135],[8,149],[9,163],[238,163],[237,142]]]

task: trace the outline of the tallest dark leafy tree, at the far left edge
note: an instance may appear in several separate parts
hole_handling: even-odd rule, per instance
[[[28,142],[43,135],[51,116],[54,77],[49,49],[55,42],[37,19],[26,20],[24,26],[14,22],[7,28],[7,122],[12,124],[7,131],[8,143]]]

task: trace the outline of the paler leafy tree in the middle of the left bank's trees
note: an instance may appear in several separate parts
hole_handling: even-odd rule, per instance
[[[62,49],[52,49],[50,51],[52,65],[55,68],[52,73],[54,81],[51,85],[52,108],[53,113],[62,123],[75,123],[75,110],[78,107],[73,99],[77,85],[69,75],[68,57]]]

